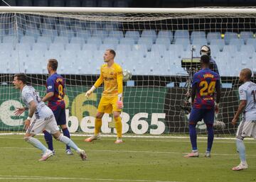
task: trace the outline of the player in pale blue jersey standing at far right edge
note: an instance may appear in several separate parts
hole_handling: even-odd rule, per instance
[[[250,81],[251,76],[252,71],[247,68],[242,69],[239,76],[239,81],[243,83],[239,87],[240,105],[232,120],[232,124],[235,125],[239,115],[243,113],[242,121],[236,133],[236,146],[239,152],[240,164],[233,167],[233,171],[248,168],[243,139],[251,136],[256,139],[256,84]]]

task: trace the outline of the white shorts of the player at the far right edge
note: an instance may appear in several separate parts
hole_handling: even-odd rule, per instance
[[[238,126],[236,137],[240,140],[243,140],[245,137],[254,137],[256,139],[256,120],[242,120]]]

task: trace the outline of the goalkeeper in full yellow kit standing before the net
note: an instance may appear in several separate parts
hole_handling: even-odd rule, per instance
[[[97,108],[95,117],[95,133],[92,137],[85,139],[85,142],[92,142],[100,138],[100,127],[102,126],[102,116],[104,113],[113,113],[115,128],[117,130],[116,144],[122,143],[122,123],[120,113],[124,107],[122,102],[122,67],[114,62],[114,50],[106,50],[104,54],[104,62],[100,68],[100,77],[97,79],[92,88],[85,93],[86,97],[95,91],[104,82],[104,91]]]

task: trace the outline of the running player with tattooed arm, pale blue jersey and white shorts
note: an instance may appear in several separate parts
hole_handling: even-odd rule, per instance
[[[39,161],[46,161],[49,157],[53,156],[53,152],[47,149],[39,140],[34,138],[36,134],[42,132],[43,129],[48,130],[56,140],[67,144],[69,147],[75,149],[80,155],[82,160],[86,159],[85,151],[78,148],[78,146],[70,140],[70,138],[63,136],[60,133],[58,125],[56,123],[53,111],[48,108],[48,106],[41,101],[41,98],[36,93],[32,86],[26,85],[26,75],[25,74],[15,74],[13,84],[16,89],[21,90],[21,98],[23,103],[25,103],[26,108],[18,108],[15,111],[16,115],[21,115],[26,109],[29,109],[28,118],[24,121],[24,126],[26,129],[26,135],[24,140],[34,147],[41,149],[43,156]],[[31,122],[31,118],[33,117]]]

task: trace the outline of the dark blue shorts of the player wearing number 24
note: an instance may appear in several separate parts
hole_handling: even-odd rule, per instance
[[[204,123],[213,124],[214,123],[214,108],[206,109],[206,108],[192,108],[191,113],[189,115],[189,123],[193,123],[196,125],[198,121],[203,119]]]

